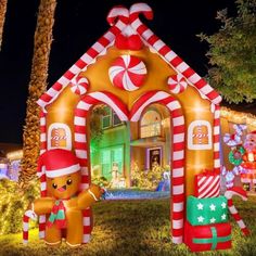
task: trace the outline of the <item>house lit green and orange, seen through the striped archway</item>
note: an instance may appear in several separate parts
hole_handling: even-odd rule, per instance
[[[135,165],[145,171],[154,166],[170,164],[170,116],[161,104],[150,105],[140,121],[120,121],[116,113],[105,106],[101,118],[103,137],[97,146],[91,145],[92,178],[103,176],[108,181],[117,171],[121,187],[130,181]],[[128,187],[130,184],[128,183]]]

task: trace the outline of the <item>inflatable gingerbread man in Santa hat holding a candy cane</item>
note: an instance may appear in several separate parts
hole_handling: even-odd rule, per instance
[[[101,188],[91,184],[79,191],[81,174],[79,159],[67,150],[44,152],[38,162],[38,171],[46,176],[47,196],[37,199],[24,215],[24,243],[28,240],[28,218],[47,215],[44,241],[50,246],[60,245],[65,230],[65,240],[71,247],[82,243],[82,210],[99,201]]]

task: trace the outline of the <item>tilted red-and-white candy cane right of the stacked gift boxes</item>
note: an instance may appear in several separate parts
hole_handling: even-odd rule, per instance
[[[235,219],[235,221],[239,225],[240,229],[242,230],[243,234],[244,235],[248,235],[249,234],[249,230],[246,228],[243,219],[239,215],[238,209],[233,205],[232,197],[234,195],[240,196],[243,201],[247,201],[247,194],[246,194],[246,192],[242,188],[239,188],[239,187],[234,187],[234,188],[232,188],[230,190],[227,190],[225,192],[225,196],[228,200],[228,207],[229,207],[230,214]]]

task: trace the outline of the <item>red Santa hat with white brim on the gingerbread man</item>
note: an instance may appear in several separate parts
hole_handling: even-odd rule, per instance
[[[56,178],[80,170],[79,159],[68,150],[54,149],[44,152],[38,159],[38,172]]]

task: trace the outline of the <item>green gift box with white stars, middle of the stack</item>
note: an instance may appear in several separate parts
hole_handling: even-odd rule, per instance
[[[228,201],[223,195],[213,199],[187,199],[187,220],[192,226],[228,221]]]

